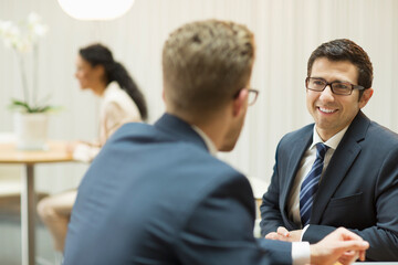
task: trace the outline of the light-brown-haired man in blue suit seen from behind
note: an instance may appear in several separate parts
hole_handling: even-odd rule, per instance
[[[313,264],[364,258],[368,243],[344,229],[311,247],[253,237],[250,184],[212,156],[234,147],[255,100],[248,88],[253,60],[253,34],[243,25],[210,20],[170,34],[166,114],[154,126],[123,126],[93,161],[64,264],[291,264],[300,246]]]

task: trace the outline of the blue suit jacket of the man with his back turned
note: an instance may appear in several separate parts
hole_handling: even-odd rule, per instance
[[[291,264],[291,244],[253,237],[243,174],[181,119],[127,124],[78,188],[64,264]]]

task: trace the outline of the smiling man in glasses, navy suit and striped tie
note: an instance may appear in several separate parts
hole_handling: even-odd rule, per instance
[[[360,110],[373,95],[369,57],[334,40],[312,53],[307,76],[315,124],[277,146],[262,235],[316,243],[344,226],[369,242],[367,259],[398,261],[398,136]]]

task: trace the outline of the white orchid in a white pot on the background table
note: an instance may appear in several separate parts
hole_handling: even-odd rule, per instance
[[[36,95],[38,41],[46,31],[48,26],[34,12],[18,24],[0,21],[0,38],[7,47],[14,51],[21,74],[23,99],[12,99],[10,104],[10,108],[15,110],[14,132],[20,149],[45,149],[48,113],[55,109],[48,105],[48,98],[39,100]],[[28,59],[30,64],[25,65]],[[27,68],[31,70],[29,75],[31,78],[28,78]]]

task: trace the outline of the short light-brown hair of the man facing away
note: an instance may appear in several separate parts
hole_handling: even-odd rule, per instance
[[[170,33],[163,49],[166,102],[178,112],[224,106],[248,84],[254,36],[244,25],[207,20]]]

